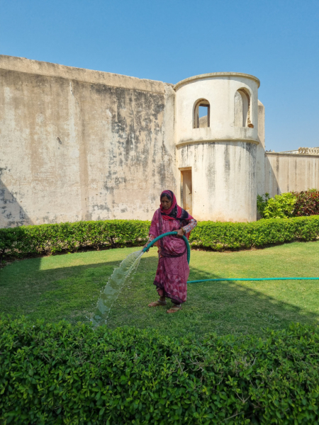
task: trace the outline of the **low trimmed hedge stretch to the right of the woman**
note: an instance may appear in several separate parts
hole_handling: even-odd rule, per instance
[[[258,220],[250,223],[199,222],[191,232],[191,246],[248,249],[284,242],[314,241],[319,237],[319,216]]]

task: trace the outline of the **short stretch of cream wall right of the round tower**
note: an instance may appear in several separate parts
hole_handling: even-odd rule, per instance
[[[319,157],[266,152],[263,193],[275,196],[309,188],[319,188]]]

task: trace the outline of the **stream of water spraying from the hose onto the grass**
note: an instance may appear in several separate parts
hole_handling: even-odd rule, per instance
[[[101,292],[96,305],[96,310],[91,318],[91,324],[94,328],[106,324],[108,314],[110,314],[113,302],[116,301],[121,288],[128,282],[130,276],[135,273],[143,251],[135,251],[129,254],[121,262],[118,268],[115,268],[111,277],[108,279],[105,288]]]

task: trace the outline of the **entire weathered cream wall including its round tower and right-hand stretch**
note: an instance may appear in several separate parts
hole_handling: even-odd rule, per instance
[[[181,203],[186,169],[198,220],[253,221],[257,193],[319,188],[318,156],[265,152],[258,87],[234,72],[173,87],[0,56],[0,227],[150,220],[164,188]]]

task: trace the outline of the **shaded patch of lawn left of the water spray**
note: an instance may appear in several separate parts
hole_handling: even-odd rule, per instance
[[[0,280],[0,312],[56,322],[87,321],[120,261],[40,270],[40,258],[12,263]]]

